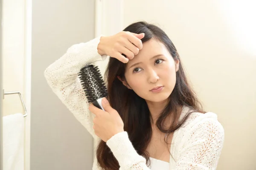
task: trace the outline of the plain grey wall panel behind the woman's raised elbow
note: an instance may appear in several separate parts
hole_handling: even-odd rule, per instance
[[[93,138],[52,92],[45,69],[94,38],[94,0],[32,2],[31,170],[89,170]]]

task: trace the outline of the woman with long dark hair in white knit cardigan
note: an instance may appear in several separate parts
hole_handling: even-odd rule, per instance
[[[78,72],[110,56],[105,111],[89,104]],[[213,170],[224,142],[215,113],[204,112],[179,54],[163,30],[133,23],[71,46],[44,73],[49,86],[95,139],[93,170]]]

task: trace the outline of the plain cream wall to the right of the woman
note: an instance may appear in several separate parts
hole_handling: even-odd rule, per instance
[[[230,2],[127,0],[123,28],[145,20],[166,31],[204,108],[217,113],[224,126],[225,142],[218,170],[252,170],[256,169],[256,48],[250,37],[255,37],[255,29],[247,39],[238,38],[240,32],[228,20]],[[237,12],[241,13],[236,16],[244,14],[239,11],[241,8],[249,10],[242,5],[246,3],[238,6]],[[247,15],[246,19],[254,22],[255,15]],[[243,22],[241,27],[247,25]],[[250,47],[246,47],[250,50],[242,45],[248,41]]]

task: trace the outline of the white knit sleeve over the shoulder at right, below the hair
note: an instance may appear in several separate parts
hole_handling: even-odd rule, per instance
[[[204,119],[187,134],[175,170],[215,170],[224,143],[222,125],[216,119]]]

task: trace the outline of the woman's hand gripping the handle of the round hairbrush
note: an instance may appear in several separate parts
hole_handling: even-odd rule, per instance
[[[89,110],[95,114],[93,119],[94,133],[99,136],[104,142],[107,142],[116,133],[124,131],[124,123],[115,109],[113,109],[108,100],[102,99],[102,106],[105,111],[95,107],[92,103],[89,105]]]

